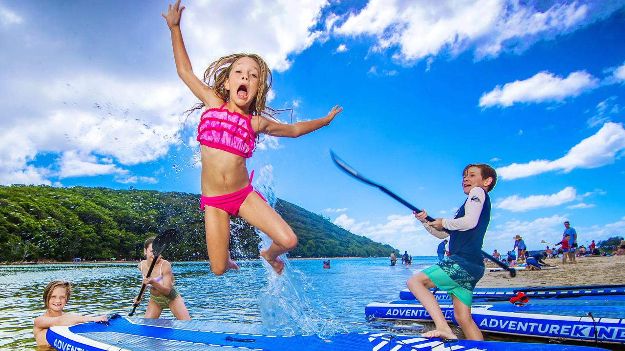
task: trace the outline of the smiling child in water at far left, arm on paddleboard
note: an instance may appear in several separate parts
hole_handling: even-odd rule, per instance
[[[53,280],[43,289],[43,305],[46,312],[33,321],[32,334],[37,342],[37,351],[55,350],[47,343],[46,333],[55,325],[74,325],[85,322],[106,322],[106,315],[89,317],[86,315],[68,314],[63,312],[69,301],[72,284],[64,280]]]

